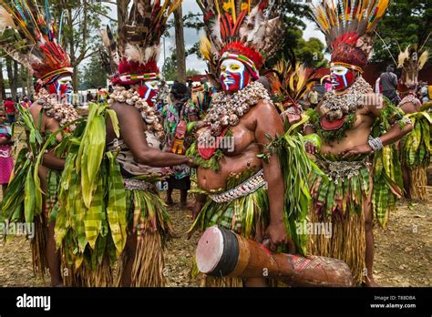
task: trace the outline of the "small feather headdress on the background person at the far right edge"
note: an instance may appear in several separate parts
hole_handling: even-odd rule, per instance
[[[427,50],[418,48],[418,45],[407,46],[405,51],[398,56],[397,68],[402,68],[400,82],[402,85],[398,90],[404,92],[408,89],[415,89],[418,84],[418,72],[425,66],[429,54]]]

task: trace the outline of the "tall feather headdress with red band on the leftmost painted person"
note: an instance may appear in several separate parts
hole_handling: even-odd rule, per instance
[[[41,12],[36,0],[0,0],[0,32],[12,29],[0,47],[18,63],[26,66],[46,85],[64,74],[72,74],[69,56],[57,43],[57,26],[49,14],[47,0]]]

